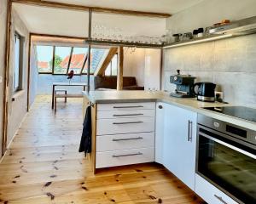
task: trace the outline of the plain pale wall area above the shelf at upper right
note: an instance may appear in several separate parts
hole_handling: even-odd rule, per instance
[[[172,34],[212,26],[221,20],[240,20],[255,14],[255,0],[204,0],[166,20]]]

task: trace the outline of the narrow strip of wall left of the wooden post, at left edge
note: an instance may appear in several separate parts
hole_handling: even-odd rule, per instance
[[[0,6],[0,77],[2,77],[2,82],[0,82],[0,158],[3,144],[3,75],[5,69],[7,2],[7,0],[1,0]]]

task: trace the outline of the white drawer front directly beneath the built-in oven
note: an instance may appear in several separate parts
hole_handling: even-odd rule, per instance
[[[230,198],[230,196],[224,194],[221,190],[218,190],[214,185],[210,184],[206,179],[200,175],[195,174],[195,193],[200,195],[207,203],[211,204],[238,204],[236,201]]]

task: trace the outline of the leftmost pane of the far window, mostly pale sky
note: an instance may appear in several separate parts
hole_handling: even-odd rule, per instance
[[[53,47],[38,45],[37,54],[38,54],[38,72],[39,73],[52,72]]]

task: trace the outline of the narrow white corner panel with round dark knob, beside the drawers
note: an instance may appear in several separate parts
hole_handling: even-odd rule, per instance
[[[155,161],[163,164],[164,124],[166,104],[157,102],[155,107]]]

